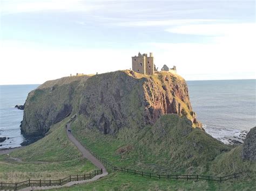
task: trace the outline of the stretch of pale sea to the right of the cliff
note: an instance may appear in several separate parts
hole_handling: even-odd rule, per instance
[[[256,126],[256,80],[188,81],[193,110],[206,132],[227,143]],[[239,139],[237,139],[239,140]]]

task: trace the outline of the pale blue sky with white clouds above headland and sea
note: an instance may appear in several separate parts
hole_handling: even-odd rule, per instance
[[[0,84],[130,69],[153,53],[185,80],[256,78],[255,1],[0,0]]]

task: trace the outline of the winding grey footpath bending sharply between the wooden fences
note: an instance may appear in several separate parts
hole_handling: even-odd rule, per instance
[[[69,186],[73,186],[73,185],[78,185],[80,183],[86,183],[86,182],[92,182],[92,181],[96,181],[100,178],[102,178],[103,176],[106,176],[107,174],[107,171],[106,171],[106,168],[105,166],[102,164],[102,162],[100,162],[97,158],[95,158],[90,151],[86,150],[83,145],[81,145],[78,140],[72,135],[71,132],[69,132],[70,130],[70,123],[67,124],[67,127],[66,127],[66,133],[68,135],[68,138],[69,140],[74,144],[76,145],[76,147],[78,148],[78,150],[82,153],[82,157],[83,158],[86,158],[88,160],[90,160],[92,162],[93,165],[95,165],[96,167],[98,167],[99,169],[102,169],[103,173],[102,174],[99,174],[99,175],[96,175],[94,176],[92,179],[87,179],[87,180],[79,180],[79,181],[71,181],[71,182],[68,182],[66,183],[65,185],[62,185],[62,186],[42,186],[42,187],[39,187],[39,186],[30,186],[30,187],[26,187],[26,188],[23,188],[21,190],[24,190],[24,191],[28,191],[28,190],[45,190],[45,189],[57,189],[57,188],[62,188],[62,187],[69,187]]]

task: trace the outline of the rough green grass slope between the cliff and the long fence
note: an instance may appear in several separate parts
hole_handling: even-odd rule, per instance
[[[81,118],[79,118],[82,120]],[[178,115],[161,116],[143,129],[124,128],[116,136],[72,125],[75,136],[109,162],[157,173],[205,173],[217,155],[230,150]]]

